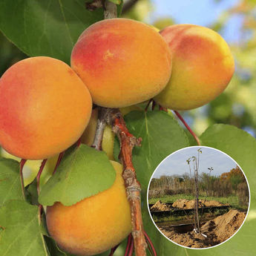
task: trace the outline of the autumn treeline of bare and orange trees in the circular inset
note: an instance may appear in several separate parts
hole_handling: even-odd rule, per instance
[[[243,172],[237,166],[231,171],[214,176],[206,173],[199,175],[199,194],[201,197],[229,197],[236,195],[240,205],[248,204],[249,190]],[[161,176],[153,178],[148,197],[160,197],[165,194],[194,194],[194,174],[181,176]]]

